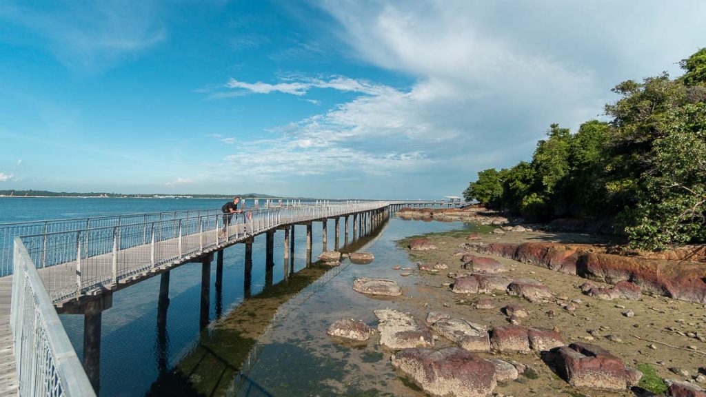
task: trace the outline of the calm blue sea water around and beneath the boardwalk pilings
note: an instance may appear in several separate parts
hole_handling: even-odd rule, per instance
[[[219,208],[225,200],[0,198],[0,222],[85,217],[116,213]],[[341,222],[341,227],[343,223]],[[334,223],[328,223],[329,249]],[[160,278],[150,278],[114,294],[113,307],[102,314],[102,396],[332,396],[376,395],[400,386],[383,353],[343,347],[325,330],[343,316],[376,324],[373,310],[390,306],[351,289],[361,275],[397,280],[414,293],[414,276],[391,270],[409,266],[397,239],[426,232],[457,230],[460,223],[425,223],[390,219],[369,237],[347,249],[376,256],[368,265],[344,261],[338,268],[306,266],[306,231],[295,232],[294,261],[283,262],[283,233],[275,234],[275,266],[265,271],[265,237],[253,244],[253,267],[246,283],[244,247],[225,249],[222,289],[215,288],[211,266],[210,319],[199,329],[201,264],[171,271],[166,327],[157,327]],[[343,238],[343,232],[341,232]],[[313,227],[314,258],[321,253],[321,223]],[[285,278],[285,275],[287,277]],[[83,316],[61,320],[79,355],[83,349]],[[248,364],[249,363],[249,364]],[[405,386],[401,386],[404,388]]]

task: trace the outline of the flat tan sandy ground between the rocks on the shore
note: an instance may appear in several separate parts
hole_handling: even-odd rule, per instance
[[[429,235],[429,239],[438,249],[431,251],[410,251],[413,262],[448,264],[448,271],[426,273],[417,271],[418,281],[415,288],[405,291],[405,298],[398,301],[403,311],[411,312],[420,319],[426,318],[427,312],[450,312],[454,316],[484,324],[489,328],[508,324],[501,312],[506,304],[520,304],[530,312],[523,326],[542,328],[558,327],[566,343],[590,341],[606,348],[621,357],[626,365],[652,365],[659,376],[665,379],[686,380],[703,371],[706,367],[706,354],[689,350],[688,346],[706,352],[706,343],[695,338],[682,336],[681,333],[698,333],[706,336],[706,305],[671,300],[666,297],[643,296],[640,300],[598,300],[583,295],[578,285],[586,280],[577,276],[566,275],[546,268],[532,266],[510,259],[494,257],[511,270],[509,275],[522,278],[534,278],[549,287],[552,292],[566,301],[574,301],[575,312],[568,312],[557,303],[530,303],[517,297],[510,297],[502,292],[495,295],[460,295],[451,292],[448,284],[453,280],[446,276],[449,272],[463,271],[460,257],[453,252],[460,244],[467,242],[467,233],[441,233]],[[587,242],[600,243],[602,237],[582,234],[562,234],[546,232],[508,232],[502,237],[481,233],[481,242]],[[400,242],[405,244],[405,240]],[[482,255],[481,255],[482,256]],[[401,272],[401,271],[400,271]],[[597,283],[599,284],[599,283]],[[600,285],[600,284],[599,284]],[[496,309],[474,309],[472,302],[484,297],[491,297]],[[622,312],[631,310],[634,317],[623,316]],[[553,316],[546,312],[554,312]],[[635,338],[650,340],[640,340]],[[651,342],[654,341],[654,342]],[[450,345],[448,340],[440,338],[437,346]],[[659,343],[657,343],[659,342]],[[676,348],[662,345],[675,346]],[[650,347],[652,345],[652,347]],[[503,360],[517,360],[530,365],[537,372],[537,379],[520,377],[509,384],[500,384],[496,393],[505,396],[635,396],[632,391],[624,393],[606,393],[595,390],[578,390],[560,379],[542,362],[538,353],[521,354],[484,354],[487,357],[500,357]],[[688,377],[671,372],[670,368],[686,370]],[[700,384],[705,387],[706,384]]]

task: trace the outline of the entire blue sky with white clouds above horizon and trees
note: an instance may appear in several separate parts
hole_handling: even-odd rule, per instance
[[[0,189],[460,195],[706,46],[694,1],[0,1]]]

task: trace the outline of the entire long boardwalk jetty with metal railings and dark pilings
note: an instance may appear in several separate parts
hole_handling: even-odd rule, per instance
[[[0,225],[0,396],[95,396],[100,390],[101,314],[113,293],[160,275],[158,304],[166,313],[169,275],[186,263],[201,264],[200,325],[209,324],[210,276],[222,279],[223,250],[245,245],[245,272],[252,247],[265,235],[265,258],[274,266],[275,232],[284,234],[285,266],[294,253],[294,230],[306,228],[311,264],[312,225],[328,220],[339,247],[385,223],[402,207],[462,206],[449,201],[266,201],[234,214],[224,225],[218,210],[172,211],[40,220]],[[285,274],[287,272],[285,271]],[[83,362],[58,314],[83,315]]]

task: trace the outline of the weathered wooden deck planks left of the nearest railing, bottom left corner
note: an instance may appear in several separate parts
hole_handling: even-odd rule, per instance
[[[10,328],[10,300],[12,276],[0,278],[0,396],[17,396],[18,380],[12,329]]]

